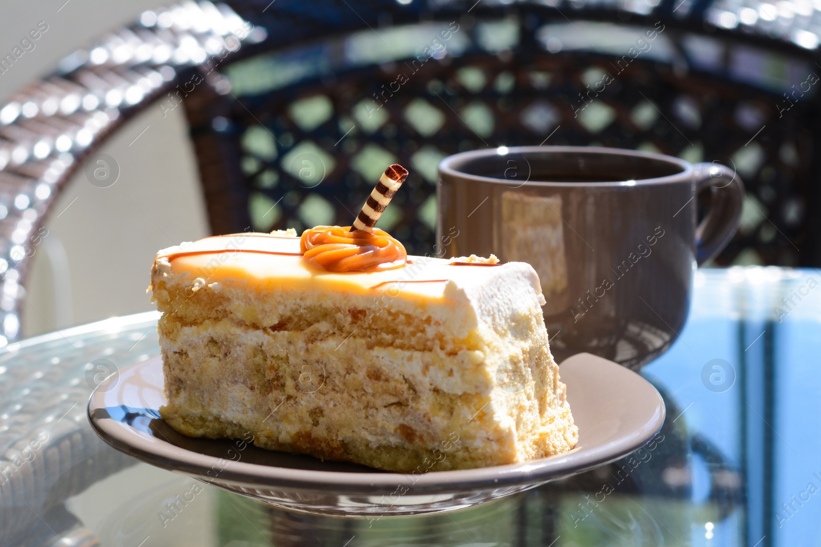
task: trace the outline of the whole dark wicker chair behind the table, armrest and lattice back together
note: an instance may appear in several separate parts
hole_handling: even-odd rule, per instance
[[[0,105],[8,339],[54,195],[153,101],[186,107],[214,233],[348,224],[400,162],[411,175],[381,222],[425,253],[441,157],[599,144],[736,168],[749,196],[718,264],[821,262],[821,219],[806,214],[821,157],[811,6],[229,3],[146,12]]]

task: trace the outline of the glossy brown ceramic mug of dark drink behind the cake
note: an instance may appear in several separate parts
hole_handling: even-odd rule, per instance
[[[617,148],[476,150],[439,163],[437,235],[446,256],[530,262],[558,359],[589,352],[637,368],[677,339],[693,271],[732,238],[743,196],[717,163]]]

